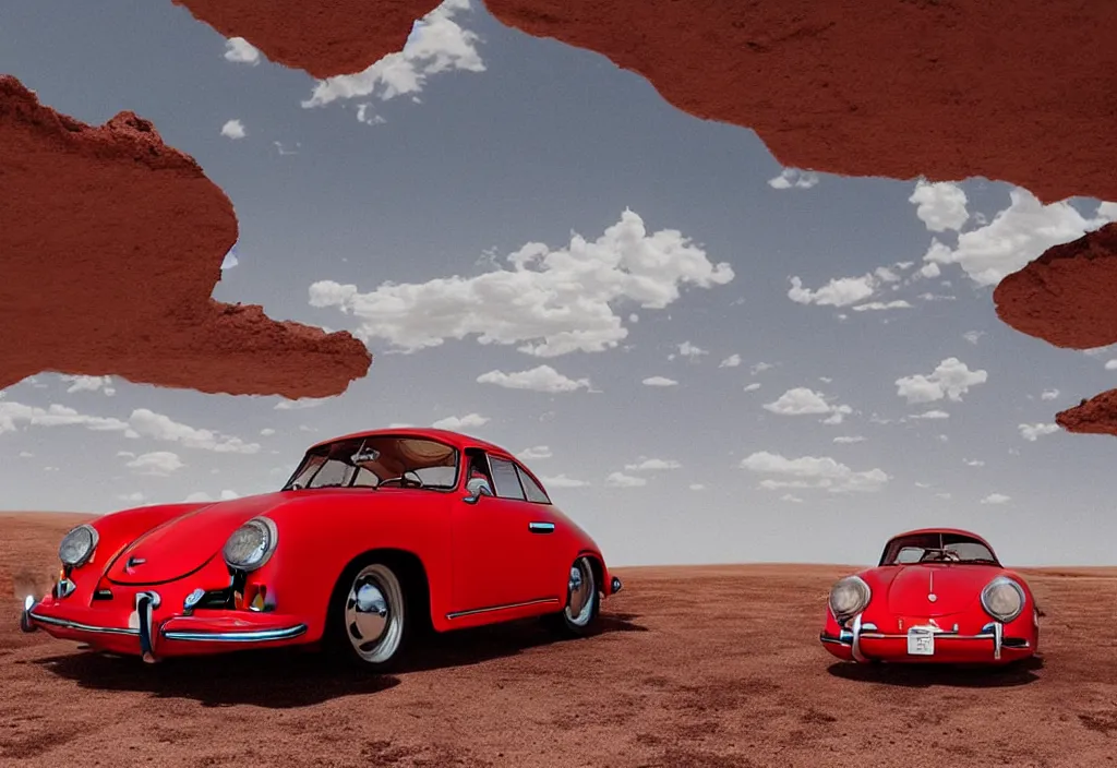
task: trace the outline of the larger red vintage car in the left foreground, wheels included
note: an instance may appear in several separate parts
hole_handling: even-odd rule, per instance
[[[515,457],[432,429],[318,443],[278,492],[99,517],[58,557],[22,628],[149,662],[313,643],[384,670],[424,626],[588,634],[621,588]]]

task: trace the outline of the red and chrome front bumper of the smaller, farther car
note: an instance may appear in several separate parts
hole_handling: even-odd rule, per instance
[[[909,640],[913,635],[932,635],[930,652],[911,653]],[[823,631],[819,640],[827,650],[839,657],[856,662],[867,661],[1012,661],[1032,652],[1031,644],[1023,637],[1006,637],[1004,624],[992,621],[976,634],[958,632],[957,624],[951,630],[935,625],[917,625],[906,633],[880,632],[876,624],[862,621],[861,614],[853,616],[848,626],[838,635]]]

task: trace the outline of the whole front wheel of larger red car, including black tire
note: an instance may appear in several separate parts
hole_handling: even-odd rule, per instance
[[[418,612],[426,601],[416,582],[408,568],[383,557],[363,558],[346,568],[326,618],[324,650],[330,660],[363,672],[398,670],[422,626]]]

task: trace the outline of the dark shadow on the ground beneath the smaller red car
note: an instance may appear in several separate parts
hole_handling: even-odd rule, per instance
[[[903,688],[1014,688],[1039,680],[1043,669],[1039,656],[1005,666],[962,664],[850,664],[838,662],[827,670],[836,678]]]

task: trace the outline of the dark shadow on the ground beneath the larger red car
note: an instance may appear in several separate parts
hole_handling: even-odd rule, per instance
[[[632,623],[634,618],[633,614],[602,614],[599,634],[647,632]],[[575,642],[592,641],[590,637]],[[322,654],[297,649],[169,659],[157,664],[78,651],[30,663],[90,690],[192,699],[204,707],[252,704],[290,709],[386,691],[411,672],[467,666],[563,643],[533,620],[437,634],[421,639],[397,674],[354,672],[331,664]]]

